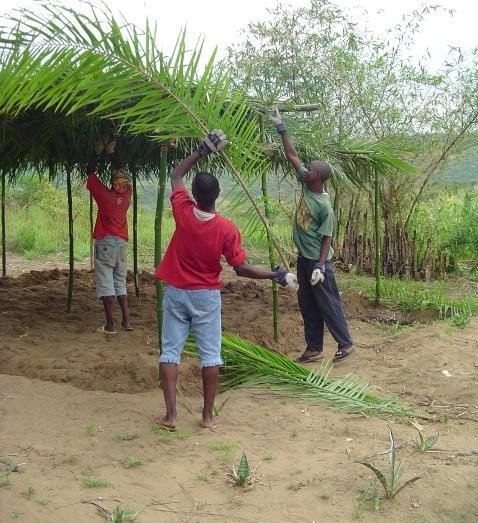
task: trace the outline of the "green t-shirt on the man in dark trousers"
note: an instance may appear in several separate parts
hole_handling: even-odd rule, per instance
[[[312,192],[307,187],[304,182],[306,171],[303,165],[297,169],[297,180],[302,184],[302,194],[293,223],[294,243],[304,258],[318,260],[323,236],[332,236],[334,233],[335,217],[329,195]],[[333,255],[331,247],[327,260],[331,260]]]

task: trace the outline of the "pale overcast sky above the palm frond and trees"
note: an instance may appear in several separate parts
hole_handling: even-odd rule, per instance
[[[57,0],[58,1],[58,0]],[[65,5],[74,5],[74,0],[59,0]],[[35,9],[35,0],[2,0],[0,12],[8,13],[16,7]],[[115,12],[140,26],[147,16],[154,19],[159,27],[159,45],[170,49],[182,27],[188,29],[188,42],[193,44],[203,36],[206,49],[216,45],[221,50],[238,38],[241,28],[251,21],[263,20],[267,8],[277,4],[277,0],[106,0],[105,3]],[[286,0],[287,5],[302,6],[308,0]],[[357,21],[364,20],[364,10],[368,11],[367,26],[380,33],[385,28],[398,23],[401,15],[416,9],[421,2],[417,0],[336,0],[336,4],[353,10]],[[435,2],[454,9],[453,18],[444,13],[430,15],[422,34],[417,39],[415,55],[422,56],[430,50],[434,62],[443,59],[448,46],[470,49],[478,46],[476,25],[478,23],[478,2],[476,0],[436,0]]]

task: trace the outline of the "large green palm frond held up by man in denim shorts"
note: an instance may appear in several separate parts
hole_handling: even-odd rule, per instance
[[[188,52],[184,34],[167,58],[156,47],[156,30],[149,23],[140,31],[108,13],[100,15],[102,20],[93,6],[85,15],[45,3],[33,13],[20,10],[13,16],[18,25],[9,40],[23,45],[2,55],[0,113],[85,111],[158,142],[199,138],[220,127],[230,138],[222,169],[241,186],[287,265],[244,181],[269,168],[257,122],[243,93],[231,90],[228,74],[214,68],[214,53],[200,70],[201,46]]]

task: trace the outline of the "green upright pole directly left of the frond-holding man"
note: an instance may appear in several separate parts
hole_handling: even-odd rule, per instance
[[[158,193],[156,199],[156,216],[154,218],[154,266],[157,267],[163,256],[161,248],[161,226],[164,211],[164,193],[166,191],[166,178],[168,174],[168,147],[161,146],[161,159],[159,163]],[[158,345],[161,350],[161,332],[163,326],[163,294],[164,287],[161,280],[156,280],[156,327],[158,331]]]

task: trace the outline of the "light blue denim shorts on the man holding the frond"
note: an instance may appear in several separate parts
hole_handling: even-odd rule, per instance
[[[193,291],[167,285],[163,298],[160,363],[180,363],[190,331],[196,337],[201,367],[222,365],[221,291]]]

